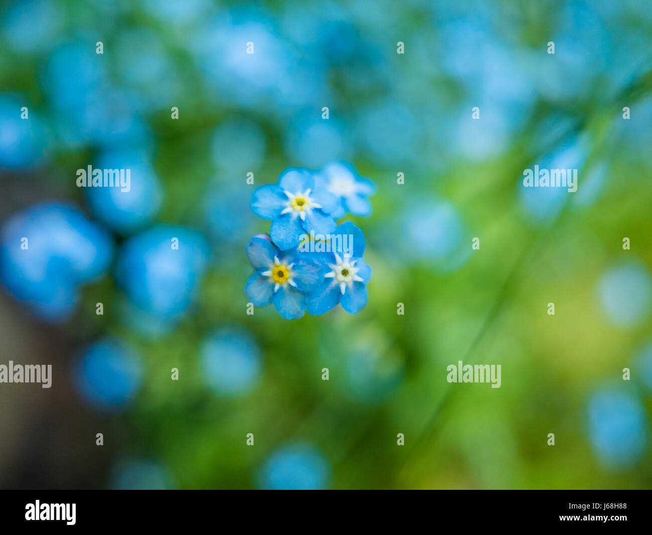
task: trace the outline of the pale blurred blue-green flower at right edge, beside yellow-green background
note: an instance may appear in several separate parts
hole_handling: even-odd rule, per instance
[[[616,326],[640,324],[650,311],[652,280],[642,262],[611,268],[598,282],[598,294],[607,318]]]

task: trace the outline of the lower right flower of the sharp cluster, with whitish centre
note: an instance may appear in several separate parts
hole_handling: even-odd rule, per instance
[[[348,313],[357,314],[366,305],[366,284],[371,279],[371,268],[363,260],[363,232],[347,221],[330,235],[329,243],[312,243],[316,252],[304,254],[313,256],[320,270],[318,284],[306,293],[308,313],[319,316],[341,303]],[[328,252],[319,252],[319,243]]]

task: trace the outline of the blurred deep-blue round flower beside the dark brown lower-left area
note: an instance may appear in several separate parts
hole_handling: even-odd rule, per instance
[[[104,410],[124,408],[140,390],[142,376],[138,354],[115,339],[89,346],[74,372],[75,384],[85,401]]]

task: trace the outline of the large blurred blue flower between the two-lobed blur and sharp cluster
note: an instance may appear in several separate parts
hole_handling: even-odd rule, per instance
[[[194,302],[208,256],[201,234],[158,225],[125,243],[115,278],[134,309],[173,323]]]

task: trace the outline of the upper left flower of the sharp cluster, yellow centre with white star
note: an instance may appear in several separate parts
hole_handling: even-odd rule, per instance
[[[336,228],[333,217],[337,198],[316,184],[310,172],[288,168],[278,178],[278,185],[259,187],[252,195],[251,209],[272,222],[272,241],[281,251],[293,249],[306,233],[329,234]]]

